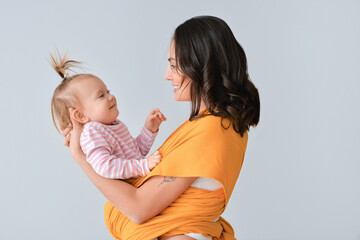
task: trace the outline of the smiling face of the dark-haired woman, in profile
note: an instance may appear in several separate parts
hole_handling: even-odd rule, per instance
[[[175,59],[175,45],[174,42],[172,42],[168,54],[169,65],[166,69],[165,79],[171,81],[171,85],[174,86],[174,94],[176,101],[191,101],[191,80],[188,77],[184,78],[180,71],[180,67],[176,65]]]

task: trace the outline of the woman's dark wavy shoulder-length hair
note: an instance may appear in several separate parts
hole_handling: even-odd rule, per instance
[[[250,81],[245,52],[223,20],[191,18],[176,28],[173,42],[179,71],[192,80],[190,121],[206,115],[199,114],[203,99],[211,115],[230,119],[241,136],[258,124],[258,90]]]

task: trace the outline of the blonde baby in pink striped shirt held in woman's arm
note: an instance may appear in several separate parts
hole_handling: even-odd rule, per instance
[[[159,164],[158,151],[145,158],[160,124],[166,121],[159,109],[150,111],[140,135],[134,139],[117,119],[116,98],[100,78],[92,74],[70,76],[68,71],[79,68],[81,63],[59,53],[50,55],[50,64],[63,78],[51,101],[55,127],[59,130],[55,118],[61,130],[71,123],[69,108],[73,108],[72,118],[83,125],[81,148],[99,175],[112,179],[145,176]]]

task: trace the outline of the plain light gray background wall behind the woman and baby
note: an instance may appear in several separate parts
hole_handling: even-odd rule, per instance
[[[111,239],[105,198],[62,145],[50,99],[58,47],[117,96],[133,135],[168,117],[153,150],[189,114],[164,80],[176,26],[223,18],[261,96],[223,216],[238,239],[360,239],[360,1],[1,1],[0,239]],[[146,201],[146,199],[144,199]]]

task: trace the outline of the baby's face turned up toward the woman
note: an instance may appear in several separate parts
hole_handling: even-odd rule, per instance
[[[90,121],[111,124],[119,115],[116,98],[110,94],[106,85],[99,78],[84,77],[75,79],[72,87],[81,102],[81,112]]]

